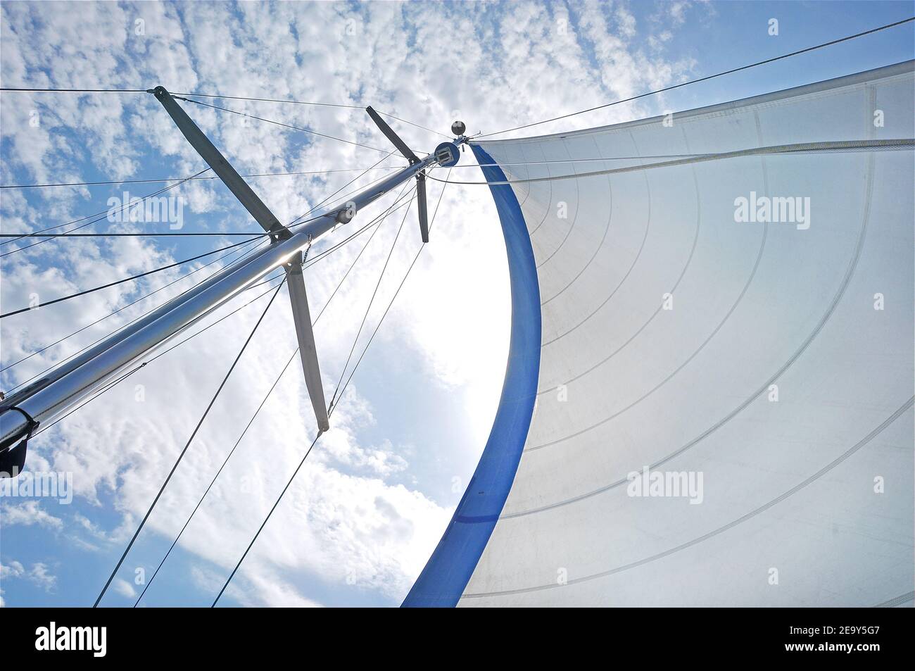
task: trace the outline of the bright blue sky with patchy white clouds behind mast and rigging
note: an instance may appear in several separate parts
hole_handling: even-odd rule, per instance
[[[419,124],[391,120],[410,146],[430,151],[456,118],[467,123],[469,134],[491,133],[801,49],[909,13],[908,3],[830,3],[825,11],[818,3],[689,1],[6,2],[0,7],[0,78],[5,87],[148,89],[161,84],[172,92],[343,105],[199,98],[349,142],[181,103],[242,174],[314,173],[251,179],[277,218],[291,222],[390,151],[361,110],[365,105]],[[770,18],[779,20],[778,36],[769,35]],[[911,31],[904,27],[527,133],[733,100],[906,60],[910,51]],[[173,179],[206,167],[146,93],[5,92],[0,126],[3,185]],[[403,163],[390,157],[381,165]],[[461,165],[472,163],[464,154]],[[381,174],[368,173],[353,187]],[[481,179],[472,167],[455,168],[455,174]],[[437,176],[444,175],[440,170]],[[63,229],[72,230],[91,221],[83,218],[105,213],[110,199],[123,200],[124,191],[141,197],[167,183],[2,189],[3,233],[80,220]],[[439,199],[441,187],[430,184],[430,203]],[[257,228],[218,180],[190,181],[167,195],[180,197],[181,231]],[[370,222],[396,196],[361,212],[312,254]],[[102,217],[81,232],[161,233],[170,231],[168,226]],[[510,315],[504,245],[488,189],[447,187],[431,237],[347,387],[331,431],[286,492],[222,605],[396,605],[436,546],[489,433]],[[28,249],[34,240],[10,242],[0,246],[0,254],[8,254],[0,257],[3,311],[238,240],[70,238]],[[307,269],[313,316],[328,306],[316,326],[328,395],[344,373],[389,253],[355,358],[419,247],[415,211],[404,209]],[[211,265],[221,254],[4,319],[0,367],[8,367],[0,373],[0,388],[23,384],[247,249]],[[352,272],[339,284],[350,265]],[[201,327],[267,288],[243,293]],[[5,605],[94,601],[268,299],[257,298],[156,359],[30,443],[28,468],[72,473],[73,499],[0,500]],[[283,290],[105,605],[134,603],[143,589],[139,579],[152,574],[295,349]],[[142,603],[210,604],[314,438],[314,425],[296,360]]]

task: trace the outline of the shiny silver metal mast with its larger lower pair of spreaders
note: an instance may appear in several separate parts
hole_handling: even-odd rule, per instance
[[[321,235],[332,231],[339,223],[350,222],[356,213],[372,201],[406,180],[416,178],[423,170],[455,165],[459,158],[458,145],[467,142],[467,137],[461,135],[456,137],[454,142],[442,143],[432,154],[425,158],[417,157],[411,165],[354,194],[343,205],[331,205],[316,213],[310,221],[296,226],[295,229],[288,229],[280,224],[264,202],[163,87],[158,86],[150,92],[162,103],[191,146],[197,149],[200,156],[244,208],[265,231],[271,233],[271,244],[227,265],[197,286],[191,287],[185,293],[137,319],[133,324],[113,333],[70,361],[61,363],[36,382],[7,395],[0,401],[0,471],[4,466],[11,464],[16,466],[16,471],[21,470],[20,461],[24,460],[27,439],[39,427],[47,425],[79,404],[101,389],[104,384],[111,382],[119,373],[124,373],[146,352],[187,329],[229,301],[243,288],[281,265],[285,266],[286,280],[289,284],[296,337],[308,393],[315,407],[318,428],[322,431],[327,430],[327,406],[320,383],[314,333],[311,331],[307,293],[302,278],[301,252]],[[5,471],[6,474],[9,472]]]

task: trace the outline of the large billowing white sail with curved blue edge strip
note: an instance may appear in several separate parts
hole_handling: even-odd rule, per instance
[[[511,358],[405,605],[910,600],[913,88],[910,61],[474,147]]]

